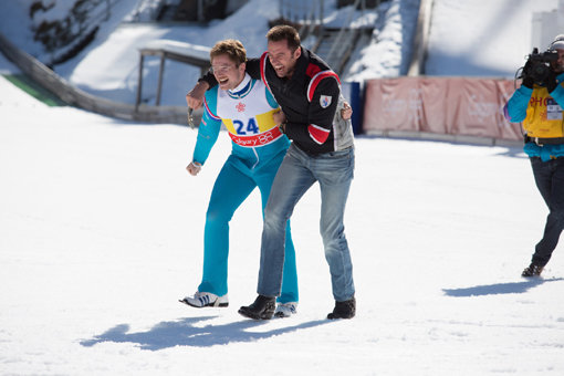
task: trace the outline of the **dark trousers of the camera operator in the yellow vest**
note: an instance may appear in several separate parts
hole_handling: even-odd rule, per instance
[[[550,211],[543,238],[536,244],[532,258],[533,263],[544,267],[564,230],[564,158],[542,161],[539,157],[532,157],[531,166],[536,187]]]

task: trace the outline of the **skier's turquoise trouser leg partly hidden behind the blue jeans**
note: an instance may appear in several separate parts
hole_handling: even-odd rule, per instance
[[[285,150],[281,152],[268,164],[262,166],[255,174],[255,181],[261,191],[262,198],[262,212],[264,216],[264,208],[270,196],[272,182],[276,176],[276,171],[284,158]],[[297,288],[297,270],[295,264],[295,249],[292,241],[292,232],[290,229],[290,220],[285,227],[285,242],[284,242],[284,270],[282,274],[282,291],[281,295],[276,299],[280,303],[299,302],[299,288]]]

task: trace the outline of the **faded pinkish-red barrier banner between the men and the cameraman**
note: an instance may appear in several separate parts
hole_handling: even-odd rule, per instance
[[[425,132],[521,140],[521,125],[502,107],[513,81],[468,77],[400,77],[366,82],[363,128]]]

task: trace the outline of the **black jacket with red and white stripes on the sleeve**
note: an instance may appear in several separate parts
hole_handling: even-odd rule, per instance
[[[268,54],[247,62],[247,73],[262,80],[286,116],[285,134],[307,154],[335,150],[333,119],[341,93],[340,80],[328,65],[313,52],[301,48],[292,79],[276,75]],[[203,80],[213,86],[213,74]]]

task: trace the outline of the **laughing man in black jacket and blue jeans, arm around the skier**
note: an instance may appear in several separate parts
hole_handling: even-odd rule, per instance
[[[274,27],[267,39],[268,52],[260,60],[249,60],[247,72],[271,90],[282,108],[276,121],[292,145],[264,210],[259,296],[239,313],[255,320],[272,317],[282,283],[285,223],[305,191],[318,181],[320,228],[335,299],[327,318],[352,318],[355,288],[343,219],[355,157],[351,122],[336,112],[344,102],[341,83],[323,60],[301,46],[294,28]],[[215,84],[213,76],[206,75],[187,95],[188,105],[198,108],[206,90]]]

